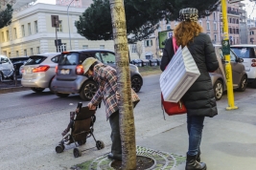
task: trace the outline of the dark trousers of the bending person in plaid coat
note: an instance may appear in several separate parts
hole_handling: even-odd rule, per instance
[[[122,146],[121,146],[121,137],[120,137],[120,128],[119,128],[119,111],[116,111],[109,117],[109,123],[111,126],[111,153],[114,156],[122,156]]]

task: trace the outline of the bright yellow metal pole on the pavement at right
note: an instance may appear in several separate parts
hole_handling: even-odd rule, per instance
[[[221,8],[222,8],[222,22],[223,22],[223,40],[221,44],[222,44],[222,53],[225,57],[225,76],[226,76],[227,100],[228,100],[228,107],[226,107],[226,110],[235,110],[235,109],[238,109],[238,107],[235,106],[235,101],[234,101],[232,68],[230,64],[230,44],[229,44],[229,36],[228,36],[226,0],[221,0]]]

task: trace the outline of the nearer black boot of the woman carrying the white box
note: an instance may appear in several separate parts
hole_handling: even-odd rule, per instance
[[[197,161],[198,156],[190,156],[187,154],[187,162],[185,170],[206,170],[206,164]]]

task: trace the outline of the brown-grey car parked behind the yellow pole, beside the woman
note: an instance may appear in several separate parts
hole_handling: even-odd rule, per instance
[[[226,91],[225,80],[225,61],[221,51],[221,45],[215,45],[215,53],[221,59],[221,67],[214,73],[209,73],[212,79],[215,98],[221,99],[223,92]],[[238,57],[232,51],[230,52],[230,64],[232,68],[233,89],[244,92],[247,85],[247,74],[244,69],[243,58]]]

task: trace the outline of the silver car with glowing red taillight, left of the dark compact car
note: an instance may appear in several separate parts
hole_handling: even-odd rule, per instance
[[[22,86],[30,87],[36,93],[50,88],[59,56],[60,53],[42,53],[30,56],[22,67]]]

